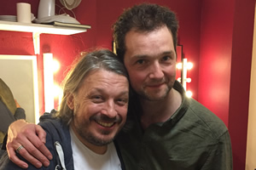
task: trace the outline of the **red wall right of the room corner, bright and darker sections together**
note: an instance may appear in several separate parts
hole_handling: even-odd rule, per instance
[[[199,101],[229,127],[234,170],[245,169],[254,0],[202,3]]]

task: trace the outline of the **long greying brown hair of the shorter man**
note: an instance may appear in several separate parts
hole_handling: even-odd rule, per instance
[[[73,119],[73,110],[67,105],[67,97],[69,94],[74,94],[78,91],[84,78],[90,74],[91,71],[105,70],[112,71],[116,74],[124,76],[128,79],[125,66],[121,60],[108,49],[100,49],[84,54],[72,66],[72,69],[67,73],[67,77],[63,82],[63,97],[61,99],[60,111],[57,111],[56,117],[67,125]]]

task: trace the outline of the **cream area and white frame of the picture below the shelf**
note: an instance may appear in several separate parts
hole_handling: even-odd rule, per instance
[[[0,77],[25,110],[26,121],[39,122],[36,55],[0,55]]]

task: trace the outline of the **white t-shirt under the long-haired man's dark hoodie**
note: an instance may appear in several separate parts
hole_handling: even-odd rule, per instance
[[[121,170],[121,163],[113,142],[108,144],[108,150],[106,153],[100,155],[87,148],[77,138],[71,127],[69,128],[69,132],[71,136],[73,164],[75,170]]]

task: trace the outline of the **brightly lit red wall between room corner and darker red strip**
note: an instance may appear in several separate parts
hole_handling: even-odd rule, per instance
[[[203,1],[199,101],[228,126],[234,3]]]

